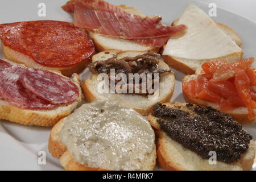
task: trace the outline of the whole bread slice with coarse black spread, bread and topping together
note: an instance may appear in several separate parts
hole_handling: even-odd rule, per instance
[[[229,114],[191,103],[156,104],[148,116],[166,170],[250,170],[255,143]]]

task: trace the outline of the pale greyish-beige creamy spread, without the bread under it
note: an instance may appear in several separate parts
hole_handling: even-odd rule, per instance
[[[154,148],[150,123],[115,101],[84,104],[64,119],[59,140],[80,164],[110,170],[137,170]]]

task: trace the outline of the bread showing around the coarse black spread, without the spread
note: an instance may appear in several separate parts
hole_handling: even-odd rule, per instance
[[[164,103],[168,108],[181,109],[189,111],[185,106],[187,103]],[[250,170],[255,158],[255,142],[251,140],[249,148],[242,154],[241,159],[233,163],[224,163],[217,161],[217,164],[210,165],[208,159],[203,159],[195,152],[183,147],[174,139],[168,137],[160,129],[158,121],[153,115],[148,115],[148,121],[155,131],[158,132],[156,142],[158,164],[166,170],[186,170],[186,171],[241,171]]]

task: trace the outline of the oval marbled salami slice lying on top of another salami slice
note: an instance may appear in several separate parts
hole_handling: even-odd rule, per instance
[[[29,69],[20,81],[24,88],[52,104],[67,104],[79,97],[79,88],[72,81],[52,72]]]

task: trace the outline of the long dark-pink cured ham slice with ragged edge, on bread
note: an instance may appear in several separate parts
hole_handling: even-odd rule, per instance
[[[169,27],[160,16],[128,14],[119,7],[100,0],[71,0],[63,10],[74,13],[75,26],[98,34],[156,47],[163,46],[170,36],[180,35],[187,29],[183,24]]]

